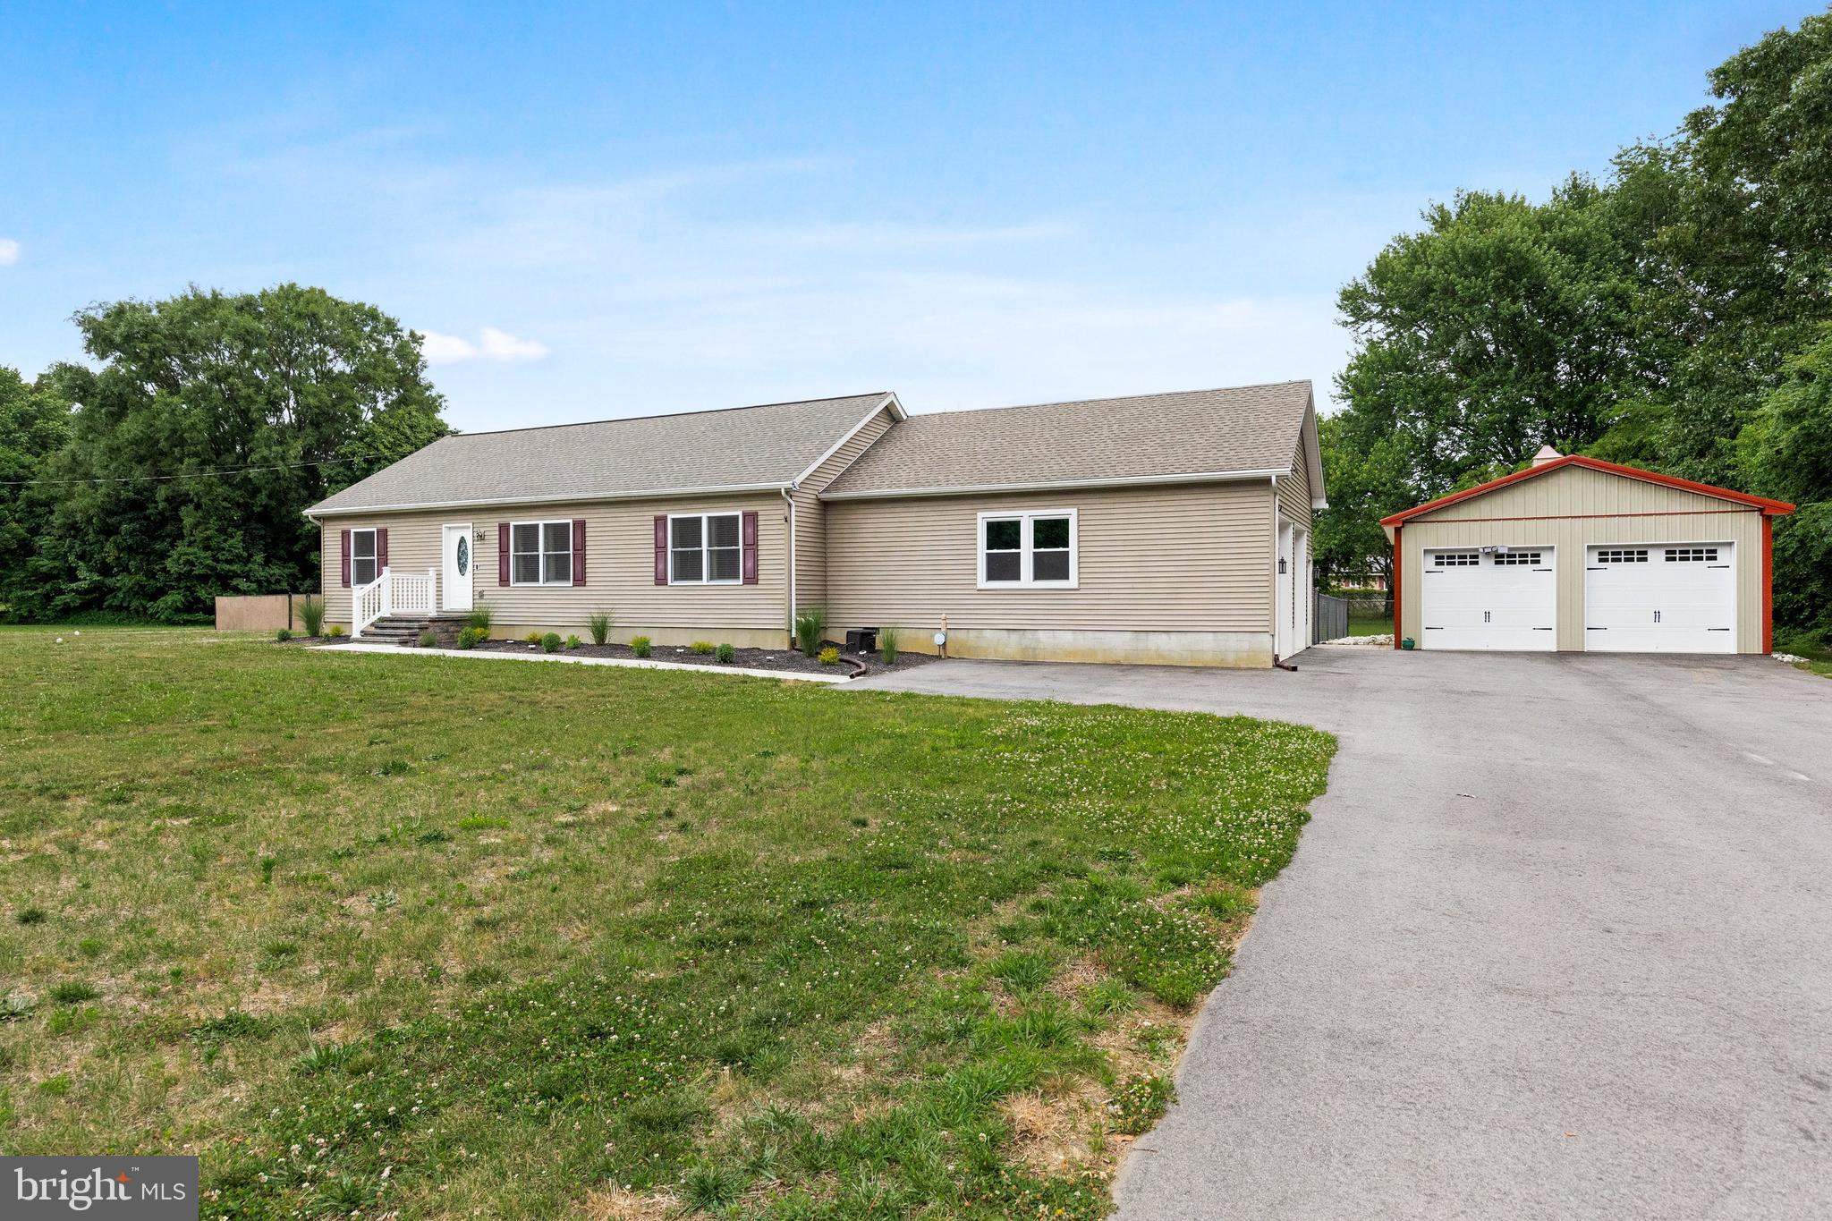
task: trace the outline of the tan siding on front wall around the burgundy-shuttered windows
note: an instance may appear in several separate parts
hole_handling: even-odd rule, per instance
[[[654,518],[660,513],[757,511],[755,586],[658,586],[654,582]],[[584,586],[496,584],[496,524],[584,518]],[[526,509],[443,511],[328,518],[324,522],[326,619],[350,622],[350,589],[339,584],[339,533],[352,525],[388,527],[388,567],[425,573],[442,567],[440,527],[471,524],[474,544],[473,597],[495,611],[495,630],[575,626],[581,633],[592,611],[612,615],[621,635],[632,630],[716,633],[720,628],[784,632],[788,606],[788,527],[780,494],[742,494],[669,500],[616,500]],[[714,637],[716,639],[716,637]]]

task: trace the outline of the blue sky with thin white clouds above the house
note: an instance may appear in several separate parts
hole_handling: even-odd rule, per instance
[[[467,430],[1326,386],[1429,200],[1601,172],[1812,11],[293,7],[0,7],[0,364],[299,280],[427,333]]]

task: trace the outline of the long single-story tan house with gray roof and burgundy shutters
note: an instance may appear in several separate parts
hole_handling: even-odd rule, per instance
[[[442,438],[308,514],[326,619],[1266,666],[1310,643],[1310,383],[911,416],[894,394]],[[942,641],[938,644],[936,641]]]

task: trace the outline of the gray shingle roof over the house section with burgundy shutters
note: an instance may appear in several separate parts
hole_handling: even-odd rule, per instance
[[[887,392],[876,392],[722,412],[465,432],[440,438],[308,513],[784,485],[887,401]]]

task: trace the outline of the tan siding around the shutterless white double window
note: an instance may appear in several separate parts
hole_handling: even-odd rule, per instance
[[[1077,511],[1075,589],[980,589],[978,514]],[[1266,481],[826,503],[828,622],[1253,632],[1271,622]]]

